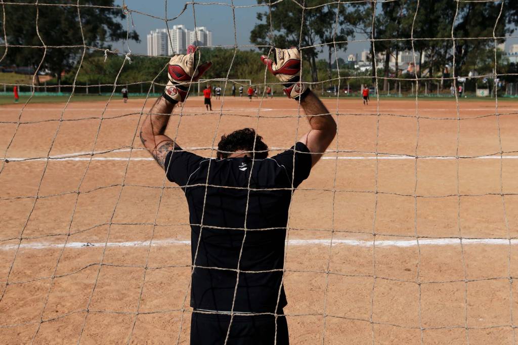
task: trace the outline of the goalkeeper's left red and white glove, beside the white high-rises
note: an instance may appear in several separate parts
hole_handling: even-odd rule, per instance
[[[165,87],[163,97],[176,104],[184,102],[192,81],[198,81],[205,71],[212,65],[211,62],[200,64],[196,68],[196,47],[187,47],[187,54],[176,54],[169,60],[167,74],[169,82]]]

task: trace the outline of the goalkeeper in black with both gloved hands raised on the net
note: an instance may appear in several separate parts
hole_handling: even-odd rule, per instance
[[[311,130],[295,146],[272,157],[251,128],[223,135],[217,159],[184,151],[164,133],[189,83],[211,66],[197,66],[195,60],[193,46],[188,54],[171,58],[165,92],[140,131],[143,145],[169,181],[181,186],[189,205],[191,344],[223,344],[227,331],[227,344],[288,344],[282,286],[288,209],[293,189],[309,176],[335,137],[336,123],[299,81],[299,51],[275,49],[273,61],[264,55],[261,60],[284,84],[293,105],[304,108]]]

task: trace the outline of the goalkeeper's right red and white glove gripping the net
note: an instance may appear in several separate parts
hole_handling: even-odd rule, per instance
[[[275,61],[261,55],[261,61],[284,85],[284,93],[292,99],[304,98],[309,89],[300,81],[300,52],[297,48],[275,48]]]

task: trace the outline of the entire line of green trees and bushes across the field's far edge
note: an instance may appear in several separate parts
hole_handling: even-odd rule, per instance
[[[376,76],[381,78],[379,87],[385,91],[394,78],[423,78],[429,89],[441,79],[443,87],[448,87],[452,71],[455,76],[467,76],[473,70],[480,75],[493,74],[495,45],[504,42],[518,23],[518,1],[257,3],[269,5],[257,13],[250,33],[250,40],[258,49],[202,47],[202,60],[213,62],[207,79],[228,77],[251,79],[254,84],[275,83],[265,73],[260,54],[271,55],[272,47],[295,46],[303,53],[303,79],[314,83],[313,88],[336,85],[339,77],[348,78],[340,80],[341,86],[350,83],[357,88],[359,83],[375,81]],[[166,66],[167,57],[131,56],[131,63],[124,62],[122,54],[108,53],[105,57],[104,50],[111,49],[112,42],[126,37],[139,40],[135,31],[126,32],[123,23],[127,15],[114,7],[113,0],[84,0],[80,7],[63,0],[47,0],[45,4],[7,3],[0,7],[0,36],[5,37],[0,42],[1,65],[48,70],[56,76],[49,82],[54,84],[71,84],[81,61],[76,80],[79,85],[113,84],[121,66],[117,83],[131,84],[132,91],[138,91],[140,86],[143,90],[149,88],[153,80],[166,82],[166,74],[160,71]],[[360,73],[337,59],[354,40],[365,40],[369,47],[370,71]],[[416,53],[413,74],[404,73],[398,66],[398,56],[404,51]],[[395,68],[390,64],[392,58]],[[516,76],[511,75],[515,70],[516,66],[498,52],[496,72],[509,74],[501,79],[515,82]],[[36,78],[35,83],[38,82]],[[280,86],[275,89],[280,91]]]

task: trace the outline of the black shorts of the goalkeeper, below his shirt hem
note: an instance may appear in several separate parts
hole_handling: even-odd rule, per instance
[[[282,313],[282,311],[281,311]],[[221,345],[230,323],[230,315],[193,312],[191,345]],[[273,345],[275,343],[274,315],[234,315],[227,345]],[[288,345],[286,317],[277,317],[277,344]]]

